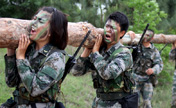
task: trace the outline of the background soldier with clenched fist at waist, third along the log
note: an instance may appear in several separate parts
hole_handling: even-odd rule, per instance
[[[133,60],[133,78],[136,82],[136,92],[142,95],[143,108],[152,108],[151,99],[153,95],[153,87],[155,87],[158,75],[162,68],[163,62],[159,51],[151,43],[154,32],[147,30],[141,45],[141,53],[134,50]],[[139,97],[140,98],[140,97]],[[140,100],[140,99],[139,99]],[[140,103],[138,104],[140,106]]]

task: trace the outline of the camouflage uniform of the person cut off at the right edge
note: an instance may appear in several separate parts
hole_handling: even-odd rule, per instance
[[[175,52],[176,49],[172,49],[169,53],[169,59],[175,60]],[[176,69],[174,71],[174,77],[173,77],[173,85],[172,85],[172,102],[171,102],[172,108],[176,108]]]

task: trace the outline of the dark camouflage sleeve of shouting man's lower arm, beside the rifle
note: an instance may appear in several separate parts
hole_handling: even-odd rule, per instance
[[[71,69],[71,73],[74,76],[82,76],[87,72],[92,71],[94,68],[93,64],[90,62],[89,57],[79,57],[76,64]]]

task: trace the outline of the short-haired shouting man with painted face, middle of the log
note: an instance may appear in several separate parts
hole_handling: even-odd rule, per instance
[[[138,95],[133,94],[130,77],[132,55],[119,41],[128,27],[126,15],[121,12],[112,13],[106,20],[104,36],[97,36],[93,49],[84,49],[71,70],[77,76],[89,71],[92,73],[96,89],[92,108],[137,108],[135,104],[138,103]],[[131,105],[126,100],[129,96],[133,101]]]

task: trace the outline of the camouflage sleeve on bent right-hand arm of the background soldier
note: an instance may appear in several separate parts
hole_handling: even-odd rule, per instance
[[[156,50],[156,55],[155,55],[153,64],[154,64],[154,66],[152,67],[152,69],[154,70],[154,74],[157,75],[163,69],[163,61],[162,61],[162,58],[160,56],[160,53],[157,50]]]

